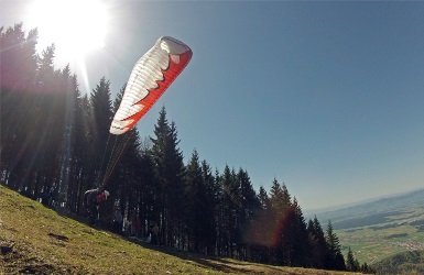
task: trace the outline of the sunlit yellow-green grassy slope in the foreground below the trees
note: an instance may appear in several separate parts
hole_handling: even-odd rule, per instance
[[[348,274],[137,244],[0,186],[0,274]]]

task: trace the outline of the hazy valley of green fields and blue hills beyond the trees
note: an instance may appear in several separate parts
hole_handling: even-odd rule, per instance
[[[328,220],[344,253],[351,248],[359,262],[374,263],[400,252],[424,250],[424,189],[331,211],[305,213]]]

